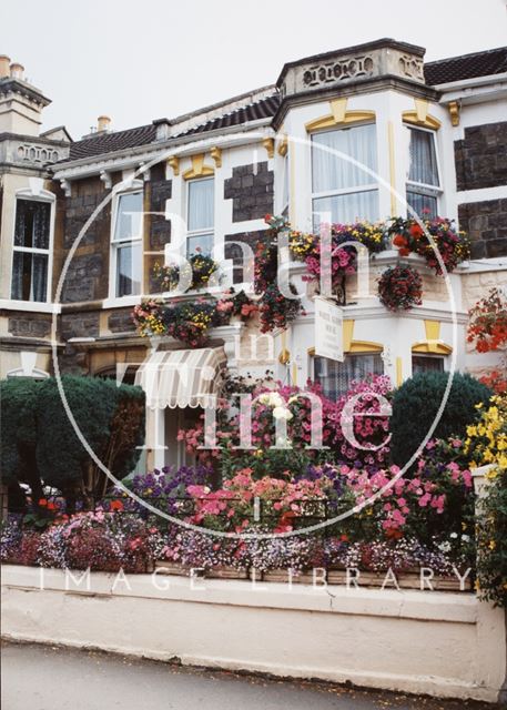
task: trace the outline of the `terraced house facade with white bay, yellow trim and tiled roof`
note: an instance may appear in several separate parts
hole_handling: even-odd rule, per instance
[[[122,131],[100,116],[78,141],[64,128],[40,132],[49,100],[0,58],[1,377],[53,374],[53,341],[61,373],[120,372],[143,384],[148,463],[161,465],[182,462],[176,430],[200,410],[203,373],[212,390],[224,364],[300,385],[310,377],[329,396],[367,373],[400,383],[453,358],[462,371],[493,366],[468,352],[465,331],[485,290],[507,283],[507,48],[429,63],[424,54],[391,39],[344,48],[185,115]],[[317,232],[325,220],[405,216],[407,205],[456,220],[471,255],[449,275],[450,292],[396,248],[369,260],[368,293],[347,276],[342,362],[315,348],[303,264],[292,274],[305,313],[286,328],[261,337],[255,318],[232,320],[211,329],[205,348],[135,328],[132,310],[160,292],[153,267],[168,248],[212,254],[223,271],[216,291],[251,291],[243,245],[265,239],[266,214]],[[423,302],[393,313],[376,281],[404,260],[422,274]],[[149,363],[174,365],[151,389]]]

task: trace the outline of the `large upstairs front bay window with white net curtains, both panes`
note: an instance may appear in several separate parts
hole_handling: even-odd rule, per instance
[[[347,158],[353,159],[352,161]],[[378,220],[375,124],[324,131],[312,135],[312,211],[314,230],[321,221],[349,223]]]

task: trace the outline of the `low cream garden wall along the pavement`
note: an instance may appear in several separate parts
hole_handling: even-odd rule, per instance
[[[126,579],[7,565],[3,635],[491,702],[505,679],[504,612],[471,594]]]

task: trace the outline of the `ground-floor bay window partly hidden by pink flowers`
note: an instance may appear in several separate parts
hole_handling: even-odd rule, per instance
[[[326,357],[314,357],[314,381],[328,399],[338,399],[349,389],[353,381],[368,375],[383,375],[384,362],[381,353],[349,353],[343,363]]]

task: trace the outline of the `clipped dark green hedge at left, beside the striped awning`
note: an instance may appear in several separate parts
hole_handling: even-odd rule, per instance
[[[144,438],[144,393],[116,386],[112,379],[61,378],[69,409],[84,439],[116,478],[123,478],[140,455]],[[0,384],[2,475],[43,484],[75,496],[102,496],[109,480],[78,438],[54,377],[34,382],[8,379]],[[31,468],[31,479],[23,471]]]

